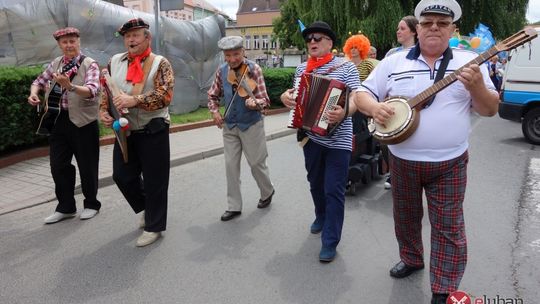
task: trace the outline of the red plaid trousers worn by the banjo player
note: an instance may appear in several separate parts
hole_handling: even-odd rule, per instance
[[[430,281],[433,293],[458,289],[467,264],[463,199],[468,152],[451,160],[422,162],[390,155],[394,229],[401,260],[424,265],[422,190],[431,224]]]

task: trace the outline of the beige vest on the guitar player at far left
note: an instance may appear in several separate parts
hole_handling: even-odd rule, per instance
[[[52,62],[53,67],[58,69],[61,66],[62,58],[63,56],[54,59]],[[95,62],[95,60],[90,57],[84,58],[77,71],[77,75],[71,80],[73,85],[84,86],[86,72],[93,62]],[[69,120],[71,120],[74,125],[80,128],[98,119],[99,92],[100,90],[98,88],[97,96],[93,98],[84,98],[75,92],[67,91]],[[48,96],[49,93],[50,91],[47,92],[46,95]]]

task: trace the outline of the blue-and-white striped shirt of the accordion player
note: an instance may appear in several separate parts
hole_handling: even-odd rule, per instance
[[[315,69],[313,73],[326,74],[329,68],[340,65],[344,61],[343,58],[334,57],[327,64]],[[304,62],[296,68],[295,77],[300,77],[304,73],[306,65],[307,62]],[[360,86],[358,70],[350,61],[343,63],[340,67],[326,76],[345,83],[351,91],[356,90]],[[352,151],[352,120],[350,117],[347,117],[331,136],[320,136],[312,132],[307,132],[307,135],[310,140],[313,140],[322,146]]]

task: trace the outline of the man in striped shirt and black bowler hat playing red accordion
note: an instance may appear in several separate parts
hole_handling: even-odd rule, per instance
[[[304,73],[322,74],[346,84],[350,90],[360,86],[356,67],[343,58],[332,55],[336,34],[328,24],[315,21],[302,31],[309,59],[296,68],[295,78]],[[281,101],[289,108],[296,106],[294,89],[281,94]],[[329,123],[338,123],[343,117],[341,106],[326,113]],[[345,187],[352,151],[352,120],[347,117],[330,135],[322,136],[306,131],[303,145],[311,196],[315,205],[315,221],[311,233],[322,232],[321,262],[330,262],[336,256],[341,239],[344,218]]]

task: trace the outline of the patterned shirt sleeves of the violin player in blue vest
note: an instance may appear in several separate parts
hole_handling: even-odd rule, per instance
[[[270,105],[270,98],[268,97],[268,93],[266,93],[266,84],[264,83],[262,69],[258,64],[255,63],[253,64],[253,67],[253,70],[249,71],[249,75],[246,75],[246,77],[249,76],[249,78],[255,80],[257,83],[257,87],[253,91],[253,95],[257,99],[264,100],[265,105]],[[222,66],[218,67],[216,78],[208,90],[208,110],[210,110],[212,113],[219,110],[219,99],[223,96],[221,68]]]

